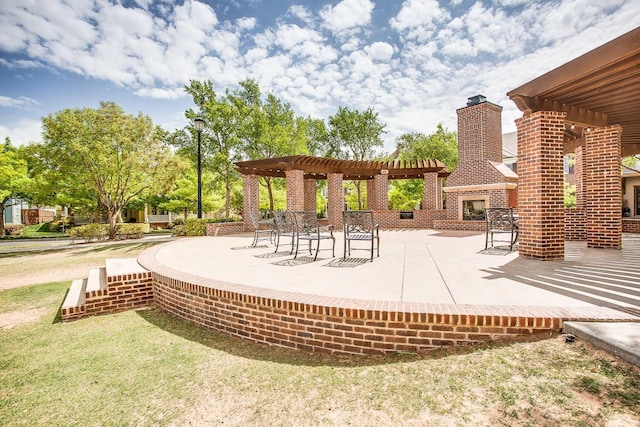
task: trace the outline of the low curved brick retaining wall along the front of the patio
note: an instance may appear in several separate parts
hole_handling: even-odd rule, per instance
[[[493,306],[361,301],[293,293],[287,294],[296,300],[288,301],[269,296],[277,291],[223,282],[205,286],[157,273],[153,277],[159,308],[232,336],[309,352],[420,352],[559,332],[562,326],[562,316],[551,311],[543,316],[522,316],[514,307],[500,310]]]

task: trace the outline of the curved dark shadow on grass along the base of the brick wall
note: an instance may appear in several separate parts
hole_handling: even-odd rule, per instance
[[[185,340],[223,351],[233,356],[300,366],[356,367],[414,362],[424,359],[441,359],[444,357],[466,355],[478,351],[489,351],[494,348],[510,346],[516,342],[540,341],[557,336],[557,334],[552,335],[549,333],[536,334],[476,345],[443,347],[427,350],[421,353],[395,352],[381,355],[318,354],[284,347],[258,344],[240,337],[227,335],[216,330],[198,326],[192,322],[156,308],[136,310],[136,313],[141,318],[157,326],[163,331]]]

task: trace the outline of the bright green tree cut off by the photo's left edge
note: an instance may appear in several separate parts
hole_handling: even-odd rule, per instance
[[[0,144],[0,237],[4,237],[4,209],[9,199],[17,197],[29,183],[27,162],[21,151],[7,137]]]

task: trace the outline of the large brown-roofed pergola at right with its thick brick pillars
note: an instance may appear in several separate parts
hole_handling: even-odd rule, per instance
[[[622,243],[621,156],[640,153],[640,28],[507,94],[518,130],[520,255],[564,257],[563,154],[576,158],[577,210],[588,247]],[[580,234],[580,233],[578,233]]]

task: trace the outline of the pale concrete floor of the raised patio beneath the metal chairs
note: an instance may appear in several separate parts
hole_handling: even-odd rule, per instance
[[[565,260],[536,261],[517,252],[484,251],[484,234],[475,232],[384,230],[381,256],[373,262],[364,249],[342,260],[342,234],[336,236],[336,256],[323,241],[315,262],[306,251],[293,259],[286,244],[278,253],[268,241],[251,248],[252,234],[184,238],[154,251],[159,264],[191,277],[277,291],[527,310],[557,307],[587,313],[585,318],[640,321],[640,235],[625,235],[621,251],[567,242]],[[640,323],[624,328],[638,357]]]

